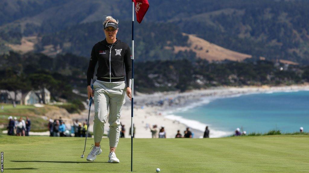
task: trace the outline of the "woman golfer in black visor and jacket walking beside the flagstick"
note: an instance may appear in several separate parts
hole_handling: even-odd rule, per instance
[[[105,39],[96,43],[91,51],[87,71],[88,98],[94,96],[95,119],[93,120],[93,135],[95,145],[87,156],[88,161],[94,161],[101,154],[100,142],[104,134],[109,107],[109,163],[119,163],[115,151],[120,135],[120,116],[122,105],[125,104],[125,94],[131,100],[132,60],[129,46],[116,38],[118,21],[107,16],[103,22]],[[97,79],[91,89],[91,79],[98,62]],[[126,77],[126,81],[125,81]]]

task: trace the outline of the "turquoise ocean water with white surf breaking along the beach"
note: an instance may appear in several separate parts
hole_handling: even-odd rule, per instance
[[[309,131],[309,91],[203,98],[165,116],[201,131],[208,125],[210,137],[231,135],[236,128],[247,133],[295,132],[299,127]]]

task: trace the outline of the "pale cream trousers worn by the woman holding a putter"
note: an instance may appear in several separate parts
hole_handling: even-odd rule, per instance
[[[95,104],[94,141],[97,143],[102,140],[109,108],[109,146],[117,147],[121,128],[121,110],[125,104],[126,84],[125,82],[109,83],[97,80],[93,84],[93,89]]]

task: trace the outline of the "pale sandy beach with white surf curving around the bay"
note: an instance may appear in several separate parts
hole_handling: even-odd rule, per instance
[[[161,124],[164,125],[167,133],[167,138],[174,138],[177,130],[183,134],[186,127],[194,133],[194,138],[201,138],[204,134],[204,129],[207,124],[201,123],[196,120],[187,119],[187,117],[173,116],[175,111],[186,111],[203,104],[210,103],[212,100],[228,97],[238,97],[241,95],[249,94],[263,94],[274,92],[296,92],[296,91],[309,91],[309,85],[293,85],[293,86],[261,86],[261,87],[216,87],[206,90],[193,90],[184,93],[179,92],[160,92],[154,94],[141,94],[138,93],[134,97],[134,120],[135,126],[143,127],[147,121],[148,115],[151,117],[151,122],[157,124],[158,127]],[[126,102],[130,103],[130,102]],[[125,105],[126,110],[130,111],[130,106]],[[143,111],[136,111],[143,108]],[[123,110],[123,112],[126,112]],[[146,118],[141,115],[146,114]],[[124,115],[124,114],[123,114]],[[123,117],[121,116],[121,118]],[[128,114],[126,114],[128,115]],[[131,115],[131,112],[129,112]],[[137,119],[137,120],[136,120]],[[141,121],[144,119],[145,121]],[[130,119],[121,119],[121,121],[128,121],[130,126]],[[126,124],[125,124],[126,125]],[[150,124],[152,125],[152,124]],[[167,128],[168,127],[168,128]],[[140,128],[139,128],[140,129]],[[129,129],[126,129],[129,130]],[[142,131],[142,132],[141,132]],[[150,138],[147,136],[145,130],[137,131],[136,137],[138,138]],[[172,133],[172,135],[168,135]],[[138,135],[139,134],[139,135]],[[233,132],[220,131],[210,127],[210,138],[226,137],[232,135]]]

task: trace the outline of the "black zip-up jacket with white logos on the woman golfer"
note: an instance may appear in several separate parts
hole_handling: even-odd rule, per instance
[[[106,39],[96,43],[92,48],[87,70],[87,86],[91,85],[97,62],[97,80],[119,82],[124,81],[126,77],[127,87],[131,87],[132,60],[129,45],[119,39],[113,44],[107,43]]]

